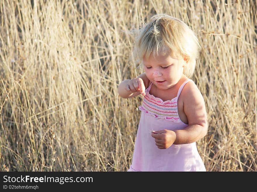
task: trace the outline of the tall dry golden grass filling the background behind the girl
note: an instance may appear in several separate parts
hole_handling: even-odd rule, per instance
[[[0,170],[126,171],[142,96],[132,30],[156,13],[181,18],[202,51],[192,79],[209,130],[207,171],[257,171],[255,0],[0,1]]]

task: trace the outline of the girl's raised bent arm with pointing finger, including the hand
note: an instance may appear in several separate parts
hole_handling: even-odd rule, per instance
[[[122,98],[131,98],[142,94],[145,96],[145,88],[149,85],[149,79],[142,73],[135,79],[126,79],[119,84],[118,93]]]

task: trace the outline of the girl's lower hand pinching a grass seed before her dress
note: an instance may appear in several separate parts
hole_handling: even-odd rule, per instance
[[[152,137],[159,149],[167,149],[176,140],[176,133],[174,131],[164,129],[152,132]]]

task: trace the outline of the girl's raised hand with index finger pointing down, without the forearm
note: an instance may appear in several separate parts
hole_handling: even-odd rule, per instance
[[[136,93],[140,91],[140,94],[145,96],[145,84],[143,82],[143,79],[141,78],[130,79],[125,86],[125,90],[130,93]]]

